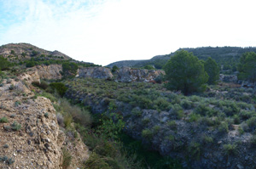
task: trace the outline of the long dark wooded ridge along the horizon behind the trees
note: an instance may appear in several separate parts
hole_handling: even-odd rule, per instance
[[[241,54],[246,52],[256,52],[256,48],[248,47],[248,48],[240,48],[240,47],[201,47],[201,48],[179,48],[177,51],[186,50],[188,52],[192,52],[199,59],[206,60],[208,57],[212,57],[215,59],[219,65],[224,65],[230,62],[237,62],[241,57]],[[176,52],[177,52],[176,51]],[[154,65],[156,69],[162,69],[162,67],[166,64],[166,60],[170,59],[172,55],[158,55],[154,56],[152,59],[145,60],[125,60],[113,62],[112,64],[107,65],[108,67],[113,67],[113,65],[117,65],[118,67],[135,67],[140,68],[145,65]]]

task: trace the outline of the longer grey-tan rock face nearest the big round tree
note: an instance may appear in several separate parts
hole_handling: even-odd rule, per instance
[[[157,76],[165,75],[163,70],[139,70],[123,67],[117,70],[116,80],[119,82],[150,82]]]

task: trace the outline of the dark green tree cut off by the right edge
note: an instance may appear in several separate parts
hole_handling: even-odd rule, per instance
[[[239,79],[256,82],[256,54],[253,52],[242,54],[238,70]]]

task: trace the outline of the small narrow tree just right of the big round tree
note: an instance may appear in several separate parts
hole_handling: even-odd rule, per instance
[[[208,84],[215,84],[219,78],[219,68],[214,59],[209,57],[207,61],[204,62],[205,70],[209,76]]]

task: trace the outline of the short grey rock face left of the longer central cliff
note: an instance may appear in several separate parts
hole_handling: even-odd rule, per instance
[[[111,70],[105,67],[88,67],[79,70],[79,77],[110,79],[113,75]]]

